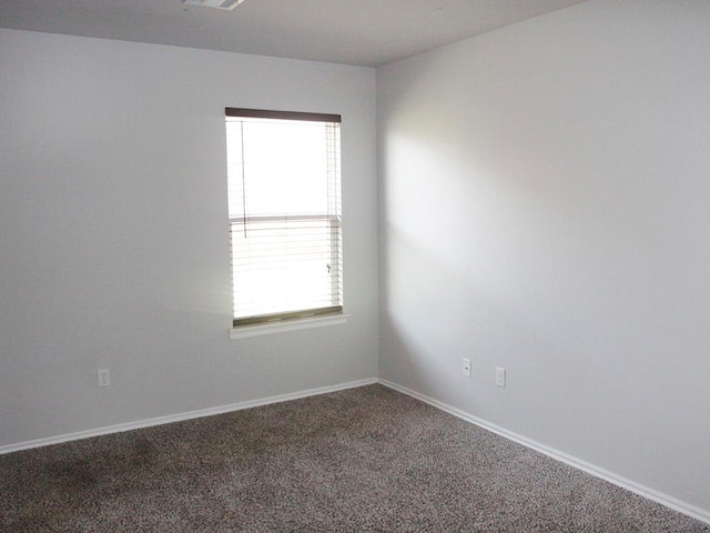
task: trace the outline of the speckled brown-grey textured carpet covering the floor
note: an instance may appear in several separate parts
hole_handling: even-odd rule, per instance
[[[0,456],[3,532],[709,532],[381,385]]]

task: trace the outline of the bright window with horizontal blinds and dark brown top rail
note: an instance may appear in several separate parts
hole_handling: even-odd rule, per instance
[[[339,127],[226,108],[234,326],[343,311]]]

